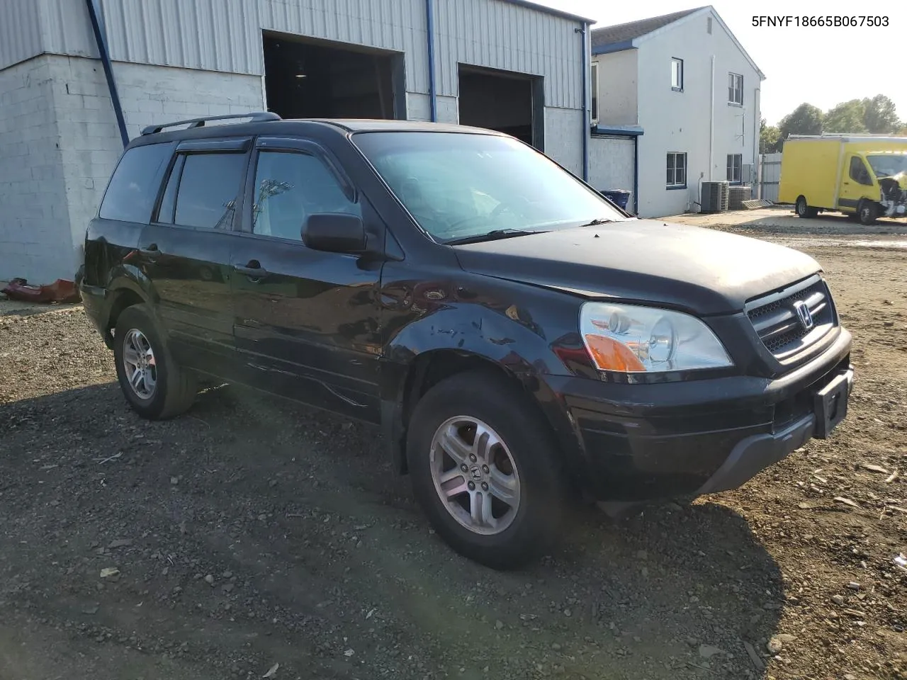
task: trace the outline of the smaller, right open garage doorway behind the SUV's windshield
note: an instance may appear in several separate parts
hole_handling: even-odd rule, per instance
[[[461,63],[460,123],[505,132],[544,151],[542,80]]]

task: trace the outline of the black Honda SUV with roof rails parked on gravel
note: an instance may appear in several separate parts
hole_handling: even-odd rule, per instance
[[[571,494],[732,489],[844,418],[851,335],[811,257],[635,219],[493,131],[206,120],[133,140],[85,238],[146,418],[214,376],[380,424],[495,568],[550,548]]]

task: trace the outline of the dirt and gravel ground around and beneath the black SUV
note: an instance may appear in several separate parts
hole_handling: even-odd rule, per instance
[[[81,308],[0,303],[0,680],[907,677],[907,250],[737,221],[823,263],[848,420],[514,573],[433,535],[375,429],[234,387],[142,421]]]

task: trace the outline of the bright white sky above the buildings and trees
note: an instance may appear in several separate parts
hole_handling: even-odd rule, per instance
[[[707,0],[534,1],[595,19],[598,24],[593,28],[707,4]],[[907,3],[903,0],[848,3],[840,0],[763,0],[760,3],[714,0],[711,5],[766,74],[766,81],[762,83],[762,115],[769,124],[776,124],[803,102],[827,111],[836,103],[875,94],[890,97],[897,105],[901,120],[907,120],[902,47],[907,30]],[[753,15],[877,15],[887,16],[888,26],[755,27]]]

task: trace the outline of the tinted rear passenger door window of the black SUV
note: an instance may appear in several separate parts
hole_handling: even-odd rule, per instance
[[[160,220],[168,221],[171,182],[176,181],[173,223],[182,227],[230,229],[236,200],[246,171],[245,153],[188,153],[174,165],[171,181],[164,191]],[[177,171],[179,170],[179,176]]]

